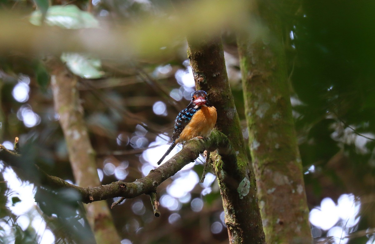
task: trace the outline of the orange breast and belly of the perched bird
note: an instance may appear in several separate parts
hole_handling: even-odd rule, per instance
[[[194,137],[208,137],[216,124],[217,112],[215,107],[201,107],[191,118],[181,132],[177,143],[186,142]]]

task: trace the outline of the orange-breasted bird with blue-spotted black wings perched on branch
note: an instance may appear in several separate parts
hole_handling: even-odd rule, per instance
[[[194,137],[203,139],[210,136],[216,124],[216,108],[208,101],[207,93],[203,90],[192,92],[191,97],[189,105],[178,113],[174,121],[172,145],[157,164],[160,164],[178,143],[187,142]]]

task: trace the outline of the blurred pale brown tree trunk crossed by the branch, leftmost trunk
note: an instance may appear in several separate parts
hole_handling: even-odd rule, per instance
[[[55,110],[60,116],[69,160],[76,184],[93,187],[101,184],[86,124],[83,107],[77,89],[77,78],[57,59],[48,62],[51,70],[51,85]],[[97,243],[120,243],[120,237],[113,224],[110,210],[105,201],[86,205],[87,219]]]

